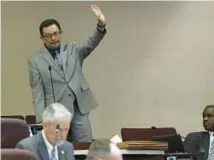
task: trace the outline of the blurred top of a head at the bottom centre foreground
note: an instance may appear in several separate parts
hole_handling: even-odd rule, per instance
[[[122,160],[120,149],[110,140],[94,140],[86,160]]]

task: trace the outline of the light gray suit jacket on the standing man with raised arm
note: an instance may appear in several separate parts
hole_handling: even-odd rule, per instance
[[[95,30],[86,44],[61,44],[60,55],[63,71],[58,69],[45,46],[28,59],[29,79],[37,123],[42,121],[45,106],[54,102],[48,66],[52,67],[56,102],[62,103],[73,113],[73,104],[69,96],[72,89],[82,114],[87,114],[96,108],[97,102],[83,75],[82,65],[83,60],[98,46],[105,34],[106,31],[102,33]]]

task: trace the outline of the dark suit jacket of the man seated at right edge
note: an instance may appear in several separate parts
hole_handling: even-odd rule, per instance
[[[193,141],[198,142],[195,143]],[[210,135],[209,132],[193,132],[186,136],[184,141],[184,149],[186,152],[197,153],[200,152],[200,146],[205,151],[205,158],[208,158],[209,146],[210,146]]]

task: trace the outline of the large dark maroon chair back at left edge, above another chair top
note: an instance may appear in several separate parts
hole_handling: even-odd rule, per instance
[[[1,148],[15,148],[19,141],[29,135],[29,127],[24,120],[1,118]]]

